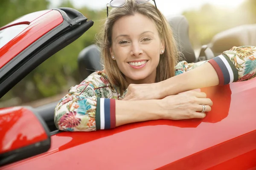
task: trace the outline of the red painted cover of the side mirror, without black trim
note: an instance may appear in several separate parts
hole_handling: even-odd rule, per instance
[[[28,109],[0,109],[0,154],[46,139],[44,127]]]

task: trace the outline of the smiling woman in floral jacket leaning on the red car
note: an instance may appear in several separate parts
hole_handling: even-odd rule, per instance
[[[148,1],[111,1],[112,6],[123,3],[108,15],[99,41],[105,70],[91,74],[61,99],[55,108],[58,129],[92,131],[155,119],[203,119],[212,101],[190,90],[255,77],[255,67],[248,67],[255,47],[234,47],[204,62],[177,62],[172,30]]]

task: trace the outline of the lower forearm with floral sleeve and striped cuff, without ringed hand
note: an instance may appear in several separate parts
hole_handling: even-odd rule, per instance
[[[96,97],[61,100],[55,111],[55,125],[65,131],[93,131],[160,119],[157,100],[121,101]],[[65,98],[65,97],[64,97]],[[65,100],[70,100],[65,103]],[[64,101],[64,102],[63,102]]]

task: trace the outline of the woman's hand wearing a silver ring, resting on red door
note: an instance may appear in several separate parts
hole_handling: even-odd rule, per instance
[[[206,94],[198,91],[186,91],[180,94],[167,96],[159,100],[161,119],[192,119],[204,118],[205,113],[202,105],[206,106],[206,111],[211,111],[212,100],[206,98]]]

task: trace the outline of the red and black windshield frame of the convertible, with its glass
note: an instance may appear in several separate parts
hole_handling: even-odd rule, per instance
[[[79,11],[56,8],[27,14],[0,28],[0,98],[91,26],[93,21]],[[9,32],[12,35],[5,38]]]

